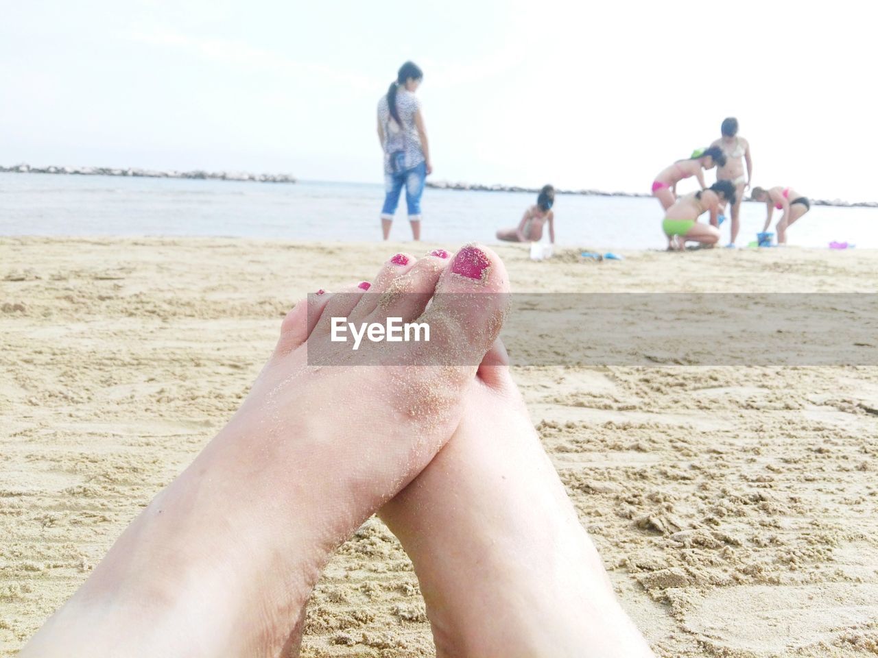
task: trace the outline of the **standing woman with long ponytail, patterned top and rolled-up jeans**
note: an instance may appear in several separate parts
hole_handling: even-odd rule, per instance
[[[424,74],[412,61],[399,68],[396,80],[378,101],[378,140],[385,154],[385,203],[381,209],[384,239],[390,235],[399,193],[406,188],[408,221],[414,240],[421,240],[421,194],[433,172],[421,101],[414,92]]]

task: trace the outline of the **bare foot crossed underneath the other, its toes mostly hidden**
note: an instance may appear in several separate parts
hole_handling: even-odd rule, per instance
[[[437,658],[646,658],[543,452],[500,342],[457,433],[380,516],[414,562]]]

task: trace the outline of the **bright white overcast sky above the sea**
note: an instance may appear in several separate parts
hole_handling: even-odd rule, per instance
[[[0,162],[379,182],[412,59],[437,180],[648,191],[737,116],[755,184],[873,200],[870,6],[0,0]]]

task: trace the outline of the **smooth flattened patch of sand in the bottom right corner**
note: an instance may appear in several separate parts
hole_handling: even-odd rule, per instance
[[[684,624],[718,649],[767,656],[831,644],[839,633],[874,619],[878,584],[742,585],[710,593]]]

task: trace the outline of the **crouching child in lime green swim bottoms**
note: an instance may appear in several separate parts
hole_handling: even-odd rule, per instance
[[[735,186],[730,181],[717,181],[707,190],[680,197],[665,211],[662,230],[669,251],[686,247],[687,241],[713,246],[719,241],[717,216],[727,203],[735,203]],[[710,223],[699,224],[698,218],[710,212]]]

